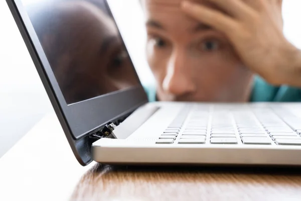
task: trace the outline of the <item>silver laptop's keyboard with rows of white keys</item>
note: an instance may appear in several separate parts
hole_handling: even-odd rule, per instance
[[[300,133],[301,120],[285,110],[195,106],[183,109],[156,143],[301,146]]]

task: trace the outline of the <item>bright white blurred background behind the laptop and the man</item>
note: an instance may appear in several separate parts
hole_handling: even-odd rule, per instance
[[[24,0],[30,4],[35,1]],[[109,0],[136,71],[145,85],[154,78],[144,55],[146,34],[138,0]],[[284,34],[301,49],[301,1],[284,0]],[[0,157],[53,111],[46,91],[5,1],[0,1]],[[47,128],[46,128],[47,129]],[[41,133],[43,135],[43,133]]]

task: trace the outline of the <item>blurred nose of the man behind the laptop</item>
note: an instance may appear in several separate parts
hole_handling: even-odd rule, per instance
[[[196,90],[192,68],[184,51],[175,51],[168,63],[163,89],[174,95],[183,95]]]

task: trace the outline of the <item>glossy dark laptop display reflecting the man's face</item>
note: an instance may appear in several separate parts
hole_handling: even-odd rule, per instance
[[[28,7],[67,104],[138,84],[118,30],[106,13],[87,1]]]

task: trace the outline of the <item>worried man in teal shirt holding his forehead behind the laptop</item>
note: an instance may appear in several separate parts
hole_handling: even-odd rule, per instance
[[[147,88],[149,99],[301,100],[301,70],[294,67],[301,53],[284,39],[281,5],[278,0],[142,0],[147,59],[157,80],[155,90]]]

